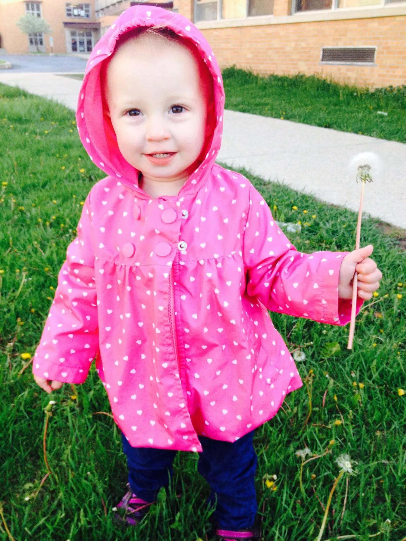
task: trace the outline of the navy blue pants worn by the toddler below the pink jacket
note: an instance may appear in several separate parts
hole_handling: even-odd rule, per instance
[[[253,431],[248,432],[234,443],[199,436],[203,452],[199,453],[198,471],[211,487],[208,502],[214,504],[217,496],[213,517],[222,530],[244,530],[254,524],[258,504],[253,435]],[[168,472],[173,476],[177,451],[132,447],[124,436],[122,442],[131,490],[146,502],[154,502],[160,488],[168,486]]]

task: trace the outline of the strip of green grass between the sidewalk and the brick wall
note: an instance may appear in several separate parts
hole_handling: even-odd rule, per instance
[[[222,75],[226,109],[406,142],[405,85],[370,92],[316,76],[260,77],[235,68]]]

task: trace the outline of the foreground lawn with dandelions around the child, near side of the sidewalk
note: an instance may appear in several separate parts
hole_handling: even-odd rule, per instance
[[[27,362],[21,353],[34,354],[66,248],[75,237],[81,201],[103,176],[78,140],[72,111],[0,85],[0,182],[6,183],[0,186],[0,269],[4,271],[0,274],[0,500],[4,519],[16,541],[196,541],[199,537],[205,541],[206,534],[212,541],[205,505],[208,487],[197,473],[195,453],[178,453],[175,460],[172,489],[181,498],[161,494],[158,505],[135,531],[113,523],[111,509],[125,491],[126,464],[112,419],[94,415],[109,412],[94,370],[83,385],[76,386],[77,400],[69,385],[51,397],[56,405],[49,419],[47,450],[54,475],[40,489],[47,472],[43,409],[50,397],[35,385],[30,367],[20,373]],[[298,249],[353,247],[354,213],[282,184],[247,176],[271,209],[277,207],[276,219],[302,221],[302,233],[289,235]],[[294,205],[298,210],[292,209]],[[305,226],[305,221],[310,225]],[[258,500],[266,540],[316,538],[322,504],[326,505],[338,474],[335,460],[344,452],[358,461],[358,475],[350,478],[342,523],[346,483],[340,481],[323,539],[353,534],[365,540],[381,532],[383,524],[378,539],[400,541],[406,536],[406,395],[397,393],[398,388],[406,388],[406,294],[397,298],[405,289],[398,282],[406,283],[404,234],[376,220],[363,221],[362,243],[374,244],[384,278],[378,302],[358,316],[353,351],[346,350],[348,328],[272,315],[290,349],[302,346],[306,354],[306,360],[298,362],[302,378],[310,370],[314,377],[310,376],[312,412],[306,427],[309,398],[303,386],[287,397],[276,417],[256,431]],[[340,350],[334,353],[337,345]],[[362,382],[364,387],[354,387],[353,382]],[[340,413],[344,424],[338,426],[333,423]],[[335,443],[330,445],[332,439]],[[303,495],[295,452],[306,445],[313,453],[322,454],[326,448],[331,453],[305,465]],[[277,491],[263,488],[265,474],[278,476]],[[0,541],[6,539],[0,521]]]

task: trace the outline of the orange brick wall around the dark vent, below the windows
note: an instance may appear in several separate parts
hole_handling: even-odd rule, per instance
[[[259,74],[318,74],[371,88],[406,83],[406,16],[216,28],[202,33],[222,68],[237,65]],[[376,65],[321,65],[321,48],[337,45],[376,45]]]

